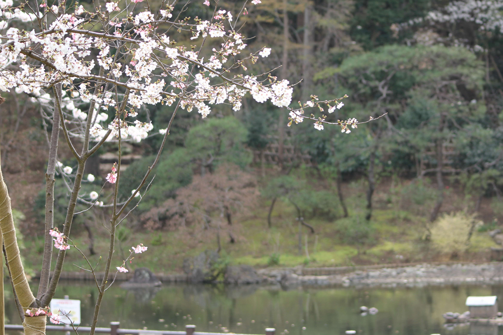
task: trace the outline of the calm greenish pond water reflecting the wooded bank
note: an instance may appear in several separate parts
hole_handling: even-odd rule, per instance
[[[64,295],[81,300],[81,325],[89,325],[96,286],[61,282],[56,298]],[[264,328],[275,327],[277,334],[291,335],[344,334],[346,330],[369,335],[465,335],[477,331],[470,326],[446,328],[442,313],[464,312],[469,295],[502,297],[503,285],[292,290],[219,285],[126,290],[116,285],[105,294],[98,325],[120,321],[121,328],[184,330],[185,324],[195,324],[196,331],[250,334],[265,334]],[[19,324],[11,301],[6,297],[6,323]],[[503,310],[503,298],[499,304],[499,310]],[[362,316],[362,305],[376,307],[379,312]]]

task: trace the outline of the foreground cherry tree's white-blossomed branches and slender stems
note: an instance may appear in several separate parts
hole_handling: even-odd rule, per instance
[[[113,178],[110,175],[107,177],[109,182],[115,182],[112,195],[113,204],[109,205],[113,207],[110,228],[105,227],[105,222],[103,222],[103,226],[110,232],[110,248],[105,265],[105,276],[101,285],[95,276],[99,297],[95,305],[91,335],[94,335],[96,330],[103,294],[110,287],[107,285],[107,281],[114,253],[116,227],[134,209],[125,214],[127,206],[140,193],[142,187],[147,185],[148,177],[160,159],[167,136],[180,107],[183,109],[187,107],[188,111],[197,108],[198,112],[205,118],[211,111],[210,105],[213,104],[224,103],[232,105],[234,110],[239,110],[243,96],[250,93],[258,102],[270,100],[278,107],[287,107],[286,109],[291,116],[290,124],[310,119],[315,121],[316,129],[322,129],[323,124],[337,124],[343,128],[343,131],[347,130],[347,132],[349,132],[348,127],[356,127],[359,124],[356,119],[328,123],[325,121],[325,116],[317,120],[314,115],[311,115],[311,117],[304,116],[303,108],[306,107],[306,104],[301,105],[300,109],[290,108],[293,85],[290,85],[286,78],[282,78],[283,80],[278,82],[277,78],[271,76],[270,72],[252,77],[238,74],[238,67],[247,71],[246,66],[248,66],[248,63],[255,64],[259,56],[268,57],[271,50],[262,48],[260,51],[251,52],[248,57],[239,56],[241,59],[237,60],[238,57],[236,56],[241,54],[240,50],[246,47],[243,42],[246,41],[246,38],[234,31],[237,27],[237,21],[231,23],[231,13],[219,9],[218,0],[211,19],[203,21],[196,18],[194,20],[195,24],[189,22],[190,18],[178,22],[168,20],[173,17],[171,12],[174,10],[169,3],[167,9],[159,9],[156,15],[157,18],[154,18],[155,12],[152,12],[154,9],[150,9],[151,4],[148,3],[148,0],[145,3],[147,10],[145,10],[145,7],[139,10],[137,8],[137,3],[142,2],[142,0],[124,1],[126,1],[126,7],[123,10],[119,8],[118,3],[114,2],[106,3],[102,10],[99,0],[94,0],[96,13],[88,12],[82,6],[78,6],[78,8],[73,6],[75,14],[65,13],[64,0],[58,0],[57,6],[53,5],[50,8],[43,2],[41,7],[44,8],[42,17],[38,15],[41,11],[38,7],[32,9],[33,13],[37,13],[36,16],[31,13],[24,13],[22,12],[23,8],[20,8],[19,11],[12,14],[13,17],[19,16],[22,21],[26,17],[29,19],[27,21],[37,19],[40,30],[45,30],[36,33],[35,30],[29,32],[11,27],[5,34],[0,35],[0,39],[7,40],[0,47],[0,71],[2,74],[0,75],[0,88],[8,90],[15,87],[17,91],[27,92],[46,109],[49,108],[47,101],[50,100],[50,96],[46,97],[45,90],[52,88],[55,99],[55,114],[52,118],[55,119],[55,116],[60,118],[59,122],[53,121],[53,131],[54,128],[59,130],[59,127],[61,127],[63,129],[68,147],[78,161],[74,180],[72,180],[73,175],[70,167],[65,167],[60,171],[63,174],[66,187],[71,189],[69,205],[63,232],[59,233],[55,230],[50,233],[56,234],[57,246],[55,246],[60,251],[55,262],[54,275],[48,281],[46,292],[39,291],[41,297],[40,300],[34,302],[35,304],[44,307],[54,295],[63,267],[65,250],[67,247],[69,248],[64,241],[69,239],[74,215],[89,210],[97,203],[96,201],[88,202],[78,196],[87,159],[95,154],[105,141],[117,141],[119,145],[118,169],[114,171]],[[162,0],[162,6],[165,2],[166,0]],[[260,3],[260,0],[253,0],[252,3]],[[172,5],[175,4],[176,1]],[[205,5],[209,5],[209,2],[206,2]],[[245,5],[246,2],[236,19],[244,11]],[[179,12],[178,18],[188,8],[187,6],[188,2],[184,4],[182,11]],[[26,8],[29,8],[29,5]],[[51,22],[47,30],[47,16],[50,13],[56,19]],[[84,13],[85,15],[82,16]],[[166,19],[161,19],[161,17]],[[121,28],[121,25],[124,25],[124,28]],[[167,30],[165,25],[168,26]],[[225,27],[228,25],[230,25],[231,30],[227,30],[228,33],[226,33]],[[161,29],[159,27],[162,27],[164,31],[158,33],[158,30]],[[184,45],[174,47],[177,43],[177,41],[173,40],[174,35],[166,35],[173,27],[178,29],[179,32],[185,31],[192,34],[191,40],[199,38],[202,33],[203,39],[199,51],[194,52],[195,47],[189,48]],[[205,62],[201,55],[203,46],[210,37],[223,37],[224,43],[219,51],[213,49],[213,54]],[[171,41],[170,38],[172,38]],[[228,58],[234,59],[233,64],[229,65],[227,63],[227,65],[224,65]],[[96,70],[95,61],[99,64],[99,70]],[[14,67],[18,69],[17,72],[12,70]],[[237,72],[233,77],[232,74],[226,74],[231,70]],[[198,73],[193,74],[195,71]],[[264,79],[265,74],[268,74],[266,79]],[[172,81],[169,83],[165,82],[165,80]],[[269,80],[269,84],[265,83],[266,80]],[[65,87],[65,91],[62,91],[62,86]],[[124,87],[124,89],[120,87]],[[74,91],[75,89],[77,92]],[[122,95],[119,90],[125,90],[122,101],[119,98]],[[71,91],[71,98],[64,97],[64,94],[68,91]],[[76,99],[78,95],[80,95],[80,98]],[[337,103],[337,107],[340,108],[342,104],[337,100],[340,99],[326,100],[324,102]],[[91,103],[86,106],[89,108],[87,114],[83,113],[79,107],[89,101]],[[166,103],[169,106],[176,102],[161,146],[140,185],[124,203],[119,203],[118,189],[121,180],[122,141],[128,141],[129,138],[140,141],[148,137],[148,132],[152,130],[153,126],[150,123],[134,120],[134,118],[138,115],[139,108],[145,104],[157,104],[159,102]],[[313,100],[308,101],[307,105],[314,106]],[[323,110],[318,102],[316,102],[316,106],[322,113]],[[116,109],[116,115],[111,124],[107,123],[105,125],[104,122],[107,122],[109,117],[107,113],[100,113],[102,108],[105,110]],[[332,107],[329,106],[329,113],[330,109],[333,111]],[[44,115],[42,111],[44,125],[46,120],[48,123],[51,122],[50,113],[47,114],[47,116]],[[134,120],[134,126],[132,120]],[[72,141],[74,143],[76,143],[75,141],[82,142],[80,155],[77,154]],[[97,141],[97,143],[90,149],[90,142],[94,141]],[[55,159],[56,156],[54,155],[53,160]],[[58,169],[61,168],[58,167]],[[71,185],[72,182],[73,185]],[[152,181],[148,183],[145,192],[148,192],[151,183]],[[98,196],[96,192],[90,193],[91,199],[97,199]],[[142,197],[140,197],[136,206],[141,199]],[[75,213],[77,201],[88,203],[90,207]],[[50,202],[49,199],[48,204]],[[49,221],[47,220],[47,222]],[[87,262],[94,273],[95,268],[91,266],[89,260]],[[44,265],[45,267],[47,267],[47,264]],[[50,264],[48,268],[50,269]],[[118,270],[124,272],[126,269],[118,267]],[[116,276],[117,273],[111,284],[114,283]],[[41,290],[43,290],[44,285],[41,286]],[[40,312],[40,310],[35,312]],[[26,329],[28,328],[26,327]],[[27,335],[31,334],[27,333]]]

